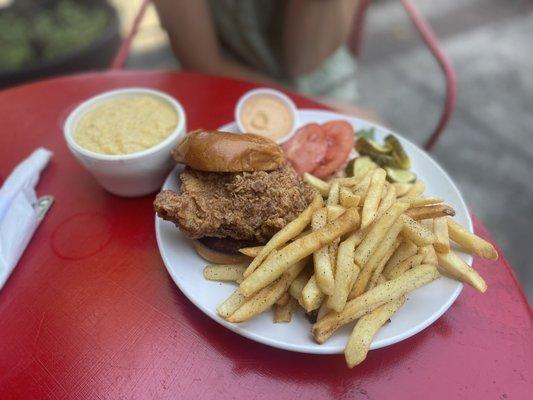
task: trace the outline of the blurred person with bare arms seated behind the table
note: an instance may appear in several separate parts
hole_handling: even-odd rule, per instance
[[[184,69],[281,84],[335,108],[357,100],[357,67],[346,40],[358,0],[155,0],[155,5]]]

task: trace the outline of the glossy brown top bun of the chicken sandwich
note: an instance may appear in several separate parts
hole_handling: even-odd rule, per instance
[[[176,162],[208,172],[272,171],[285,161],[275,142],[251,133],[197,130],[172,150]]]

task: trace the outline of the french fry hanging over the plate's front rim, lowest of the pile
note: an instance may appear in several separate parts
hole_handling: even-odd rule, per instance
[[[353,368],[365,360],[374,336],[403,303],[405,303],[405,296],[400,296],[379,306],[357,321],[344,349],[344,357],[349,368]]]

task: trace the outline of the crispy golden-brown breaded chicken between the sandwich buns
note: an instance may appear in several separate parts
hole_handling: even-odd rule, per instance
[[[284,165],[274,171],[201,172],[185,168],[181,193],[163,190],[157,214],[193,239],[232,238],[266,243],[311,202],[314,189]]]

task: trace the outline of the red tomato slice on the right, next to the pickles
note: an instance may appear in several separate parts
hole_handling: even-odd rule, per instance
[[[313,175],[327,178],[337,172],[346,162],[352,151],[355,135],[352,125],[346,121],[329,121],[322,124],[327,136],[328,148],[320,165]]]

